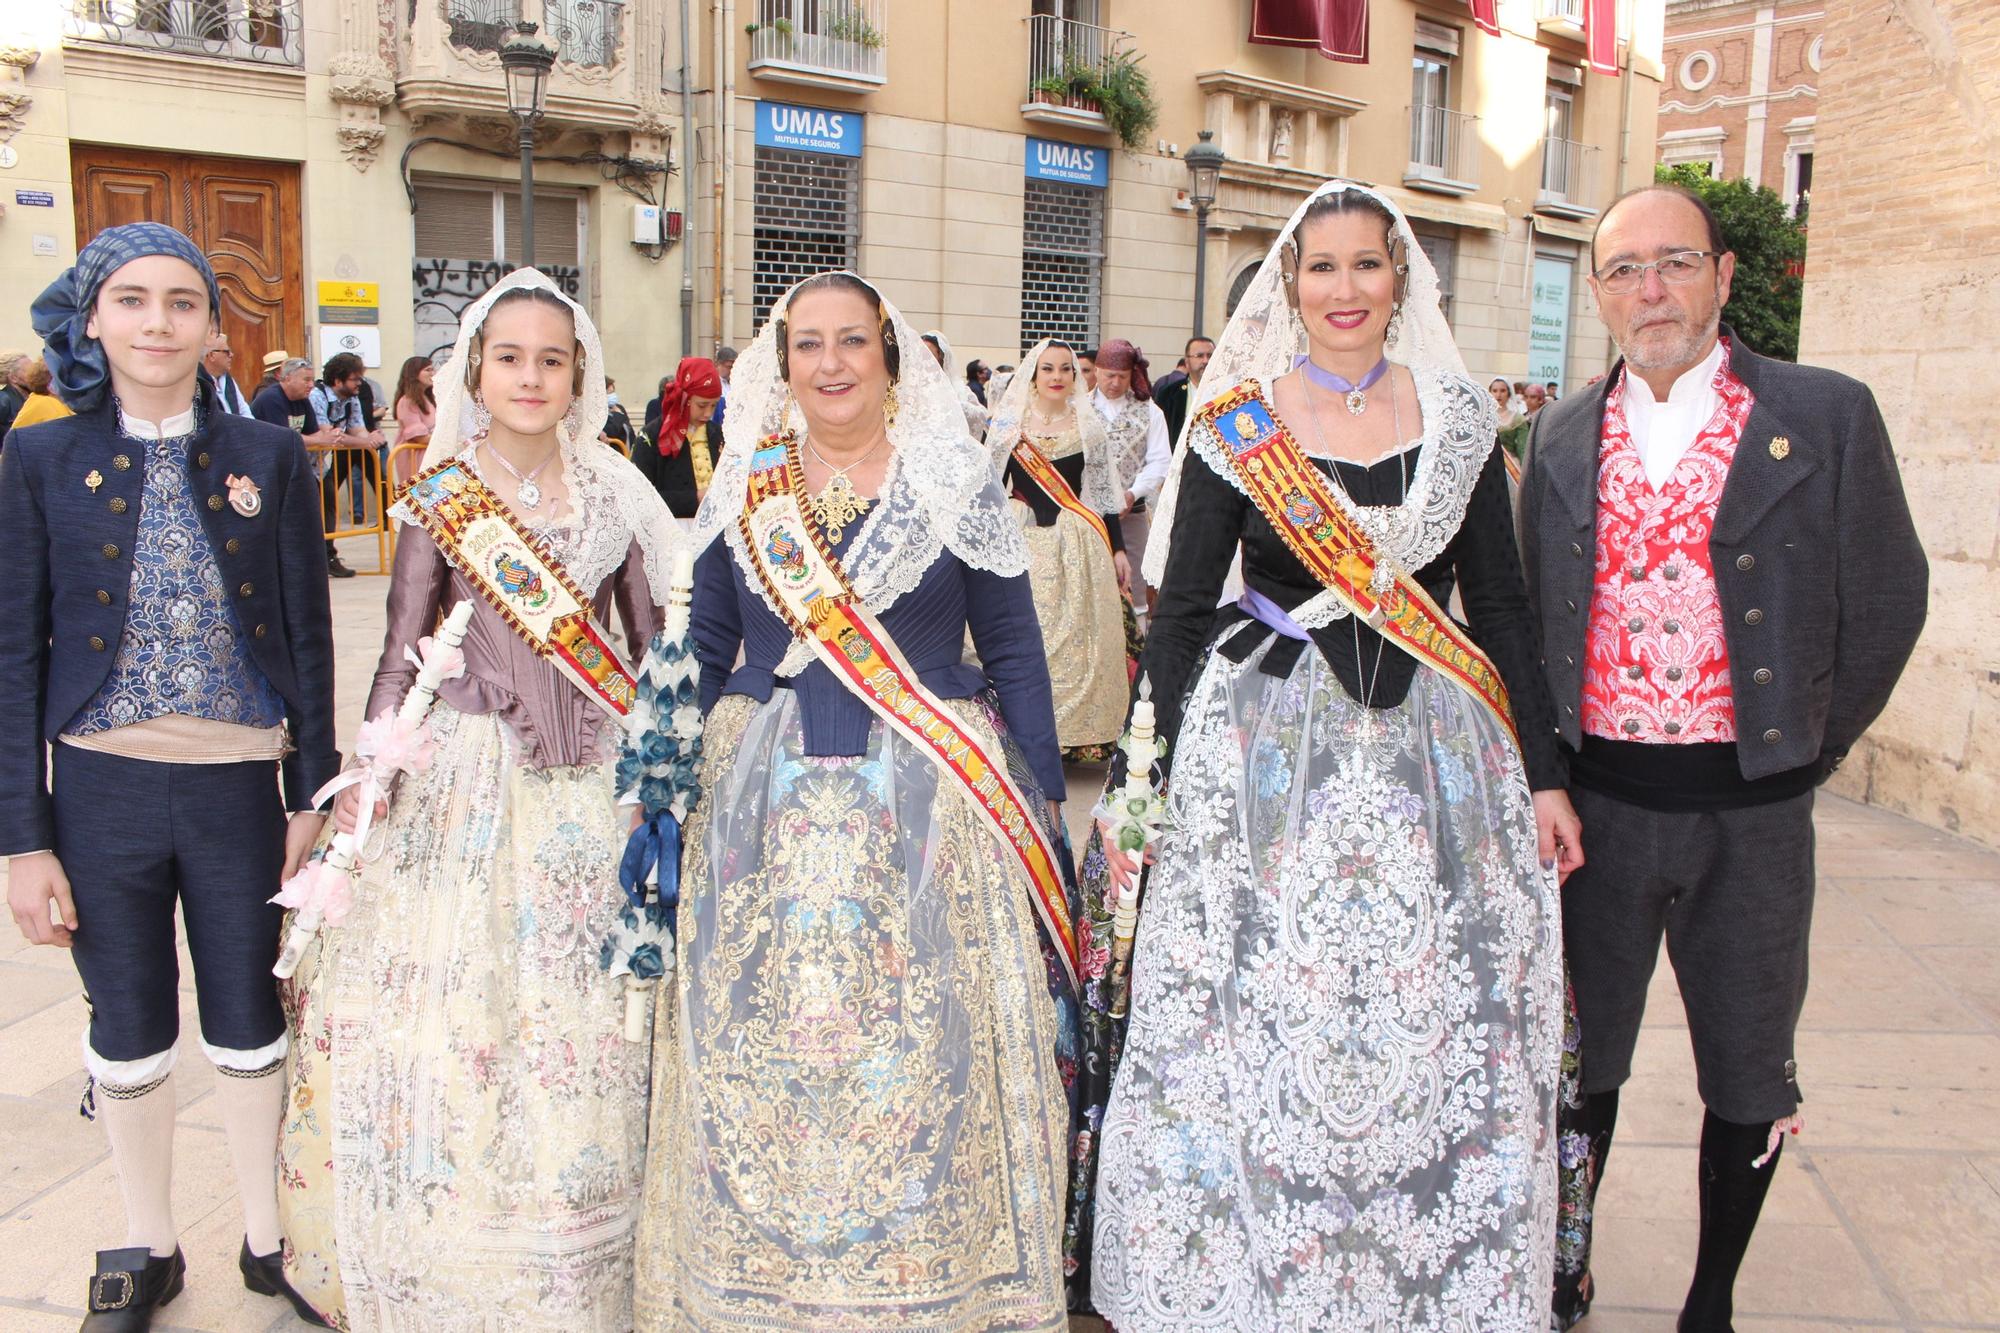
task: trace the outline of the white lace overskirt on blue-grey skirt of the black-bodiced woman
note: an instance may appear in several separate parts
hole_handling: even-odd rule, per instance
[[[1100,1139],[1120,1333],[1548,1327],[1562,959],[1512,743],[1210,656]]]

